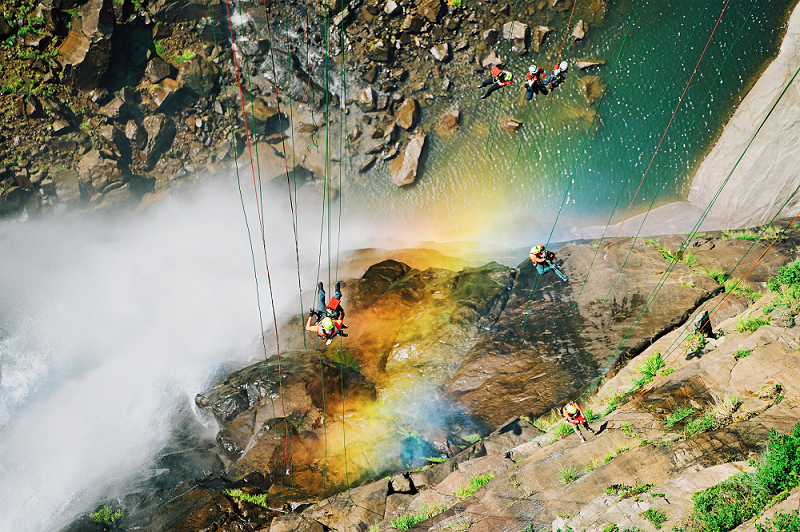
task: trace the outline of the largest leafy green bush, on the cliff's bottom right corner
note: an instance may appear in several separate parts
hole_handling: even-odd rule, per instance
[[[736,528],[800,484],[800,423],[791,434],[773,429],[769,436],[767,451],[750,462],[754,472],[738,473],[692,496],[694,517],[705,532]],[[796,517],[782,518],[779,526],[792,523],[797,526]]]

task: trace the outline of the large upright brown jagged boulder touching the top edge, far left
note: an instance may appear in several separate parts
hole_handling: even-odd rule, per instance
[[[89,0],[81,7],[58,48],[62,82],[81,90],[96,87],[109,66],[113,33],[112,0]]]

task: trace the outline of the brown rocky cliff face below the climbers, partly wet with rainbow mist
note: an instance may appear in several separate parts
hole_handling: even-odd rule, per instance
[[[741,469],[737,461],[757,452],[768,429],[794,424],[795,307],[784,309],[774,292],[751,304],[794,258],[790,235],[757,264],[767,243],[733,235],[697,236],[678,262],[671,250],[682,237],[636,242],[634,267],[616,283],[624,245],[591,270],[593,245],[561,248],[569,284],[552,274],[537,280],[530,261],[460,272],[376,264],[344,283],[350,328],[341,343],[310,337],[303,349],[297,317],[281,327],[288,349],[280,357],[267,353],[197,397],[220,426],[216,473],[162,484],[162,502],[141,505],[129,522],[349,531],[424,514],[415,530],[518,532],[558,519],[554,530],[627,526],[619,516],[633,515],[631,501],[604,495],[608,486],[646,485],[637,488],[639,513],[660,509],[665,500],[646,493],[685,498]],[[751,266],[735,290],[718,284]],[[714,334],[700,340],[694,318],[704,309]],[[747,332],[741,324],[755,318],[760,328]],[[584,445],[561,439],[567,433],[548,415],[582,391],[598,429]],[[738,403],[727,417],[687,429],[732,395]],[[477,477],[485,486],[465,491]],[[688,511],[669,508],[676,520]]]

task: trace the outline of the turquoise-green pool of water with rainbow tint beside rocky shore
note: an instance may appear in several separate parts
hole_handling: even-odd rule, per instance
[[[402,222],[420,238],[516,243],[531,233],[547,236],[556,217],[567,232],[559,230],[554,238],[568,236],[573,226],[605,224],[618,197],[612,221],[621,220],[648,166],[632,213],[647,210],[654,198],[656,206],[685,199],[696,166],[745,91],[777,55],[795,1],[728,3],[654,157],[725,4],[725,0],[707,4],[641,0],[634,16],[636,0],[611,2],[602,23],[590,22],[585,41],[568,43],[563,52],[570,62],[602,59],[605,65],[585,72],[573,66],[552,100],[536,96],[530,104],[519,79],[488,100],[478,99],[482,91],[457,87],[453,103],[462,113],[462,133],[447,139],[429,131],[428,155],[418,182],[398,189],[388,167],[377,168],[366,186],[346,189],[348,207],[370,213],[376,221]],[[531,62],[548,68],[554,64],[569,15],[566,11],[554,16],[550,27],[557,31],[548,37],[542,53],[514,56],[510,66],[517,78]],[[581,6],[575,20],[586,15]],[[504,46],[498,44],[498,51]],[[607,86],[588,137],[598,103],[587,102],[579,90],[578,80],[586,76],[599,76]],[[429,130],[451,105],[423,110],[423,127]],[[525,120],[524,127],[509,134],[493,126],[505,116]]]

